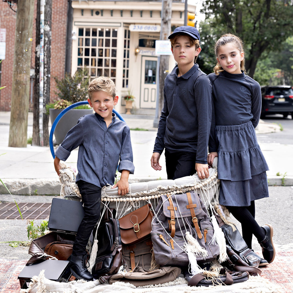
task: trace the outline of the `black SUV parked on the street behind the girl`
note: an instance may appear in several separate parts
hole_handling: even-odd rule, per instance
[[[293,114],[293,89],[291,86],[262,86],[261,93],[261,117],[270,114],[283,114],[285,118],[289,114]]]

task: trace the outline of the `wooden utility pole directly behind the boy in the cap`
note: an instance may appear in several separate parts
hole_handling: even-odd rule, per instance
[[[172,16],[172,0],[162,0],[162,20],[160,40],[168,40],[171,34],[171,16]],[[157,101],[156,101],[156,117],[154,119],[154,127],[158,127],[159,118],[164,104],[164,80],[168,74],[169,55],[161,55],[158,57],[159,72],[157,72]],[[157,68],[158,68],[157,67]]]

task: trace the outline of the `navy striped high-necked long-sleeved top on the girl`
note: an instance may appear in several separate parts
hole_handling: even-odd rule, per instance
[[[257,81],[244,74],[222,71],[208,75],[212,83],[217,125],[239,125],[251,120],[258,125],[261,111],[261,90]]]

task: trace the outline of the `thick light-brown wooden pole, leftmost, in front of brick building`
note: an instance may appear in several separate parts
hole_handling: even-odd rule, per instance
[[[34,0],[18,0],[8,147],[26,147]]]

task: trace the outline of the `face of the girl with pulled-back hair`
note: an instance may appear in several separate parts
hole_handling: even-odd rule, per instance
[[[240,62],[244,52],[240,52],[234,43],[227,43],[219,47],[217,60],[222,68],[232,74],[241,74]]]

